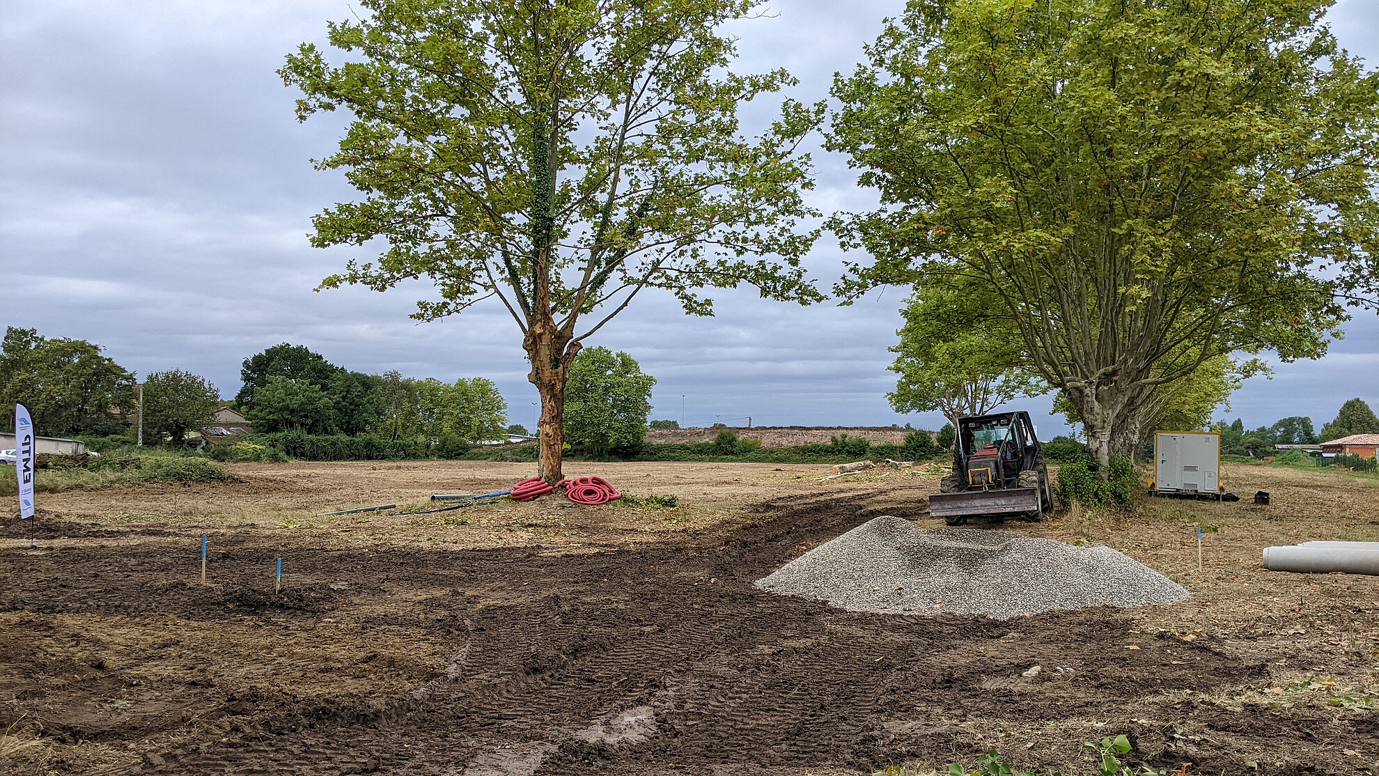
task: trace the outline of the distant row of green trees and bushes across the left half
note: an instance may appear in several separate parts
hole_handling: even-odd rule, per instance
[[[385,448],[352,442],[312,442],[306,437],[376,437],[387,442],[419,441],[408,456],[444,442],[448,453],[469,445],[506,440],[507,402],[487,378],[405,378],[397,371],[367,375],[331,364],[306,346],[281,343],[241,364],[243,386],[233,400],[199,375],[182,369],[149,374],[142,383],[146,444],[182,447],[189,431],[214,422],[229,405],[244,413],[255,436],[294,434],[276,440],[284,453],[316,458],[385,456]],[[645,438],[655,378],[626,353],[585,349],[571,365],[567,440],[572,449],[607,455],[638,447]],[[44,436],[120,437],[134,441],[138,420],[137,379],[101,353],[101,346],[44,338],[34,329],[8,328],[0,346],[0,402],[25,401]],[[12,415],[0,413],[12,425]],[[217,441],[217,440],[212,440]],[[309,447],[314,445],[314,447]],[[387,449],[393,449],[387,448]],[[352,452],[353,451],[353,452]],[[361,452],[360,452],[361,451]]]

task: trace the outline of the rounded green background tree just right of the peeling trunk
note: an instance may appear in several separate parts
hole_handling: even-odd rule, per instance
[[[640,445],[655,385],[632,356],[586,347],[570,368],[565,438],[594,455]]]

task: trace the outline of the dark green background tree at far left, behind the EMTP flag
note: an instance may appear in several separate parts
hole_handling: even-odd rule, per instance
[[[130,427],[134,375],[84,339],[8,327],[0,345],[0,402],[22,401],[40,434],[116,434]],[[14,413],[0,412],[12,429]]]

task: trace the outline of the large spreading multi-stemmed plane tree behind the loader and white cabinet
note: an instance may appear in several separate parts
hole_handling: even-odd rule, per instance
[[[912,0],[838,77],[844,291],[979,284],[1100,463],[1158,386],[1317,358],[1371,303],[1379,76],[1331,0]],[[1367,296],[1368,295],[1368,296]]]

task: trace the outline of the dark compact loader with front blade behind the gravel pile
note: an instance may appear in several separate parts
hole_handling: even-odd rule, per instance
[[[1054,511],[1044,451],[1029,412],[960,418],[953,474],[929,495],[929,514],[949,525],[972,517],[1038,520]]]

